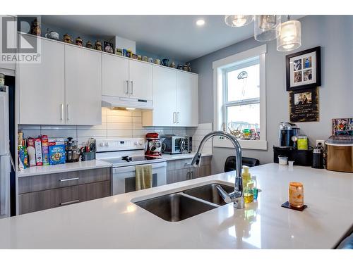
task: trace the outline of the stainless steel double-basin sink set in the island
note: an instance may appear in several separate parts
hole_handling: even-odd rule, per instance
[[[225,201],[218,194],[217,185],[220,185],[227,192],[234,190],[234,187],[213,183],[138,201],[135,204],[163,220],[179,222],[225,205]]]

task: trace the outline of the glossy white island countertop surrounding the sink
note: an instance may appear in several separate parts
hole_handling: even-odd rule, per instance
[[[119,194],[0,220],[1,249],[330,249],[353,224],[353,174],[275,163],[250,169],[262,191],[244,209],[227,204],[167,222],[133,201],[234,172]],[[282,208],[289,182],[304,184],[303,212]]]

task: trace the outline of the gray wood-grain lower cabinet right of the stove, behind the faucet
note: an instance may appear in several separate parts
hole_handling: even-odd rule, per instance
[[[211,175],[211,161],[212,156],[201,158],[201,164],[198,168],[189,164],[191,158],[167,161],[167,184]]]

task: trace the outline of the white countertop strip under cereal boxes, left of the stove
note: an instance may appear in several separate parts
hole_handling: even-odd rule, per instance
[[[58,165],[47,165],[47,166],[33,166],[20,170],[17,172],[18,177],[27,177],[33,175],[45,175],[59,172],[69,172],[76,170],[90,170],[98,168],[112,167],[111,163],[105,161],[93,160],[93,161],[79,161],[75,163],[65,163]]]

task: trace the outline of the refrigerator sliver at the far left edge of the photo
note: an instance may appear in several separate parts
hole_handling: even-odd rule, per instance
[[[8,87],[0,86],[0,219],[10,216],[10,139]]]

